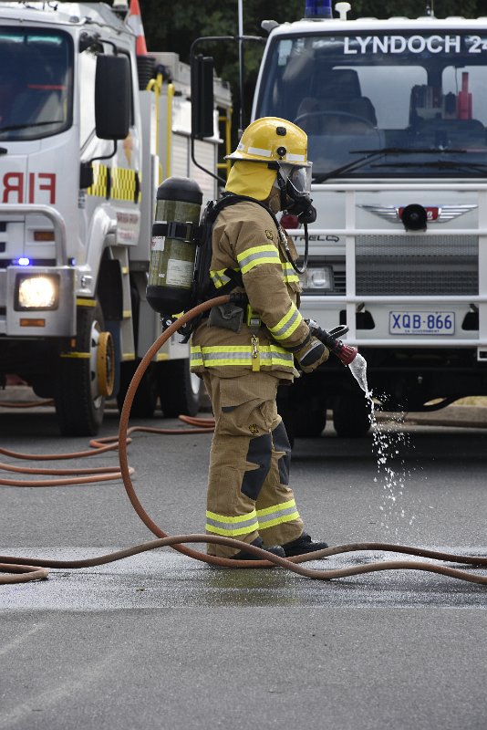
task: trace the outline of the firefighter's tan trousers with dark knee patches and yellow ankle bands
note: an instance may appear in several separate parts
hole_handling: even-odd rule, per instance
[[[265,546],[295,540],[303,522],[288,486],[291,447],[277,413],[278,378],[262,371],[221,378],[208,370],[202,378],[215,418],[207,534]],[[209,545],[208,552],[230,558],[238,548]]]

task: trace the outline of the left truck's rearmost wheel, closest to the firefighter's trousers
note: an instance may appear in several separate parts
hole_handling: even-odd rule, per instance
[[[166,418],[195,416],[200,408],[201,378],[190,371],[190,360],[157,363],[161,409]]]

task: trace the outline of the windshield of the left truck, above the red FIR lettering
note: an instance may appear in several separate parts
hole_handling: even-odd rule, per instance
[[[72,44],[57,31],[0,27],[0,140],[36,140],[72,119]]]

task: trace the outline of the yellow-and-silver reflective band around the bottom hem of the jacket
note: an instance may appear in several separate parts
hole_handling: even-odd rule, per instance
[[[191,365],[204,365],[205,368],[215,368],[230,365],[244,365],[252,367],[254,349],[251,345],[226,345],[213,347],[192,346],[190,351]],[[261,367],[280,365],[293,370],[293,354],[278,345],[261,345],[259,347]]]

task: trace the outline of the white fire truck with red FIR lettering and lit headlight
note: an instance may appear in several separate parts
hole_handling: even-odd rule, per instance
[[[53,398],[66,435],[98,432],[160,334],[145,294],[156,192],[191,177],[215,198],[203,168],[216,172],[230,123],[215,78],[213,131],[192,139],[191,69],[147,54],[132,5],[0,3],[0,378]],[[151,363],[132,415],[158,399],[165,416],[197,411],[180,339]]]

